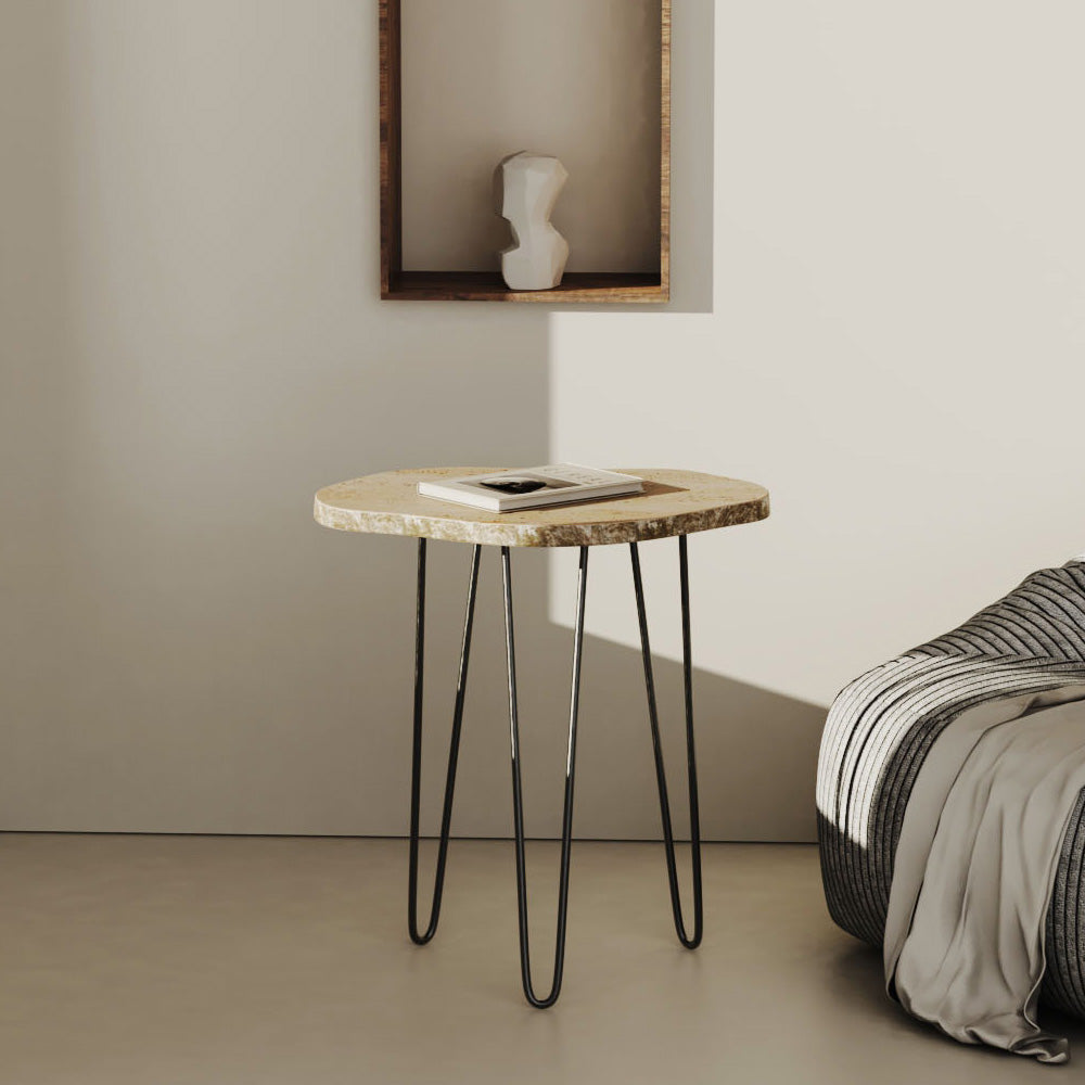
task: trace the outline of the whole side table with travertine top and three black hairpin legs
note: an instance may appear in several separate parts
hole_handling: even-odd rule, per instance
[[[621,468],[625,474],[644,480],[643,493],[631,497],[608,498],[583,502],[528,509],[522,512],[492,513],[481,509],[436,501],[418,494],[418,483],[425,478],[455,477],[488,473],[500,468],[429,468],[416,471],[387,471],[336,483],[319,490],[314,515],[318,523],[345,532],[368,532],[382,535],[406,535],[418,538],[418,588],[414,634],[414,730],[411,755],[410,853],[407,918],[411,940],[419,945],[429,942],[441,914],[441,897],[448,854],[448,837],[452,816],[452,792],[456,787],[456,763],[459,754],[460,728],[463,719],[463,697],[467,688],[468,663],[471,654],[471,630],[474,624],[475,589],[478,562],[484,546],[501,550],[501,573],[505,588],[505,633],[509,677],[509,724],[512,748],[512,812],[515,832],[516,891],[520,917],[520,969],[524,994],[533,1006],[545,1008],[558,1000],[561,992],[565,957],[565,920],[569,903],[569,857],[573,837],[573,783],[576,770],[576,723],[580,690],[580,660],[584,643],[584,608],[587,598],[588,548],[624,542],[629,546],[633,563],[633,586],[640,626],[644,688],[648,694],[648,720],[655,757],[655,779],[660,794],[663,842],[678,941],[688,949],[701,942],[703,906],[701,892],[701,830],[697,794],[697,758],[693,746],[693,690],[689,631],[689,561],[686,536],[693,532],[736,524],[752,523],[768,515],[768,492],[754,483],[693,471],[638,470]],[[681,599],[682,674],[686,704],[686,751],[689,777],[690,843],[693,870],[693,930],[690,933],[682,917],[675,865],[674,834],[671,825],[671,803],[667,797],[666,770],[660,742],[655,682],[652,676],[652,651],[648,637],[644,590],[640,574],[638,544],[649,539],[678,538],[678,584]],[[446,539],[473,545],[468,575],[463,639],[460,648],[459,676],[452,709],[452,728],[445,776],[445,796],[441,817],[441,840],[433,884],[433,901],[425,930],[418,923],[418,845],[419,800],[422,777],[422,690],[425,639],[425,544],[427,538]],[[516,707],[516,653],[512,615],[513,547],[579,547],[579,575],[576,588],[576,625],[573,636],[573,678],[569,710],[569,746],[565,761],[565,793],[561,829],[561,867],[558,889],[558,931],[556,936],[553,978],[546,995],[535,993],[532,984],[531,952],[527,941],[527,890],[524,864],[524,812],[520,776],[520,724]]]

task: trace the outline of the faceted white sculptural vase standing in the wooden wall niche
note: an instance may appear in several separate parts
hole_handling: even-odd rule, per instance
[[[501,275],[509,290],[552,290],[561,282],[569,242],[550,225],[550,213],[569,173],[552,155],[520,151],[497,167],[501,216],[512,240],[501,251]]]

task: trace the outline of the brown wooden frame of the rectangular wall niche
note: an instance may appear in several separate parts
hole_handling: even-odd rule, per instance
[[[403,0],[380,0],[381,297],[418,302],[646,303],[671,297],[671,0],[660,4],[660,267],[658,272],[566,271],[553,290],[509,290],[497,271],[403,267]]]

